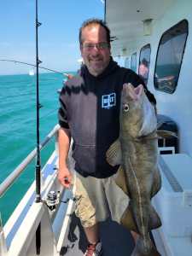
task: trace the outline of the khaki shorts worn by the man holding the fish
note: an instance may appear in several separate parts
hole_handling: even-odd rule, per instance
[[[114,221],[119,223],[122,214],[129,204],[129,197],[117,186],[112,177],[82,177],[74,172],[74,196],[76,197],[75,213],[84,228],[106,220],[109,212]]]

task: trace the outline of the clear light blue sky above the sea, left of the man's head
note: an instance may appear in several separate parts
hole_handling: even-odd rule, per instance
[[[79,68],[79,27],[104,18],[102,0],[38,0],[38,56],[43,67],[60,72]],[[0,60],[35,64],[35,0],[6,0],[0,8]],[[28,73],[30,67],[0,61],[0,75]]]

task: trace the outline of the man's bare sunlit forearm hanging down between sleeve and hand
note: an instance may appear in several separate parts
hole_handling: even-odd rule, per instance
[[[67,166],[67,156],[70,147],[71,135],[68,129],[60,128],[58,136],[59,144],[59,169]]]

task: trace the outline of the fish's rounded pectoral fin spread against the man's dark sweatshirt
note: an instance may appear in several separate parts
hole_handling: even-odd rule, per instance
[[[119,139],[116,140],[109,148],[106,153],[108,164],[111,166],[117,166],[121,164],[122,154],[120,148]]]

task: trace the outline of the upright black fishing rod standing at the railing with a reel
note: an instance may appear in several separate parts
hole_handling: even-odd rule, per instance
[[[38,65],[42,63],[38,59],[38,26],[41,23],[38,22],[38,0],[36,0],[36,114],[37,114],[37,159],[36,159],[36,202],[41,202],[41,159],[40,159],[40,136],[39,136],[39,109],[41,107],[39,103],[39,86],[38,86]],[[36,230],[36,253],[39,255],[41,252],[41,223],[38,224]]]

